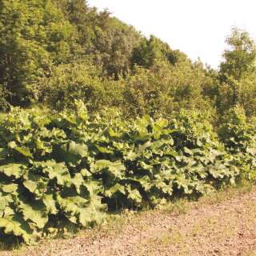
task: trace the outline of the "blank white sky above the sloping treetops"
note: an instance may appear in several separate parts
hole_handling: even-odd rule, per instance
[[[256,0],[88,0],[143,35],[217,68],[232,27],[256,39]]]

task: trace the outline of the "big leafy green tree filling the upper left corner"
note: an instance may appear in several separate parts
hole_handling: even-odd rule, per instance
[[[75,33],[50,0],[0,0],[0,85],[13,105],[30,103],[38,78],[70,61]]]

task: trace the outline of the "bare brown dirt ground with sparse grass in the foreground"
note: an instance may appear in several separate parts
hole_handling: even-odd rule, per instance
[[[77,238],[0,255],[256,255],[256,190],[129,214]]]

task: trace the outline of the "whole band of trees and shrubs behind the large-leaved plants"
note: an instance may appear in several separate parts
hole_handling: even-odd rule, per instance
[[[84,0],[0,0],[0,108],[86,103],[126,118],[256,107],[255,43],[232,30],[219,70]],[[209,49],[210,50],[210,49]]]

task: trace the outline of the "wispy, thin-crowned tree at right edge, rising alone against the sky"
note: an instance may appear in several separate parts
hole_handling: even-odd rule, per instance
[[[256,109],[256,46],[246,31],[234,28],[226,39],[228,49],[219,70],[218,108],[221,112],[240,104],[246,114]]]

